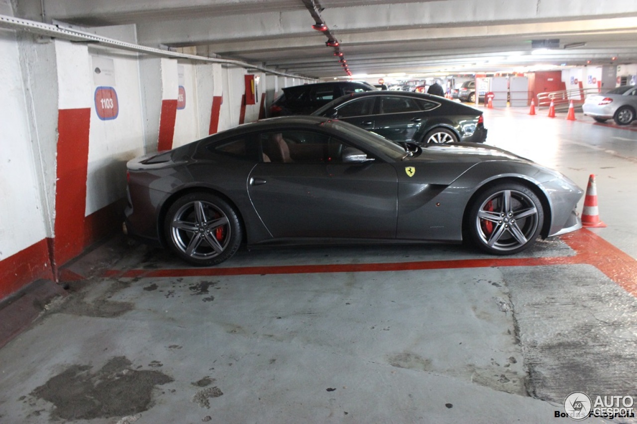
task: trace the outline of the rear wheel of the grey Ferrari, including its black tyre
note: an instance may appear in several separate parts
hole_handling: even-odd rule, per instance
[[[217,265],[238,250],[243,237],[237,212],[224,199],[205,192],[180,197],[166,213],[166,243],[197,266]]]

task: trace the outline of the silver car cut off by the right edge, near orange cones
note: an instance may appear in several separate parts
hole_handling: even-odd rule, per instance
[[[582,110],[597,122],[612,119],[617,125],[628,125],[637,117],[637,86],[622,85],[605,94],[588,95]]]

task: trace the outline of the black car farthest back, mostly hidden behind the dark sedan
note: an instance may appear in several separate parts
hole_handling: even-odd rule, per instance
[[[270,106],[269,117],[310,115],[341,95],[375,90],[373,85],[362,81],[334,81],[285,87],[283,94]]]

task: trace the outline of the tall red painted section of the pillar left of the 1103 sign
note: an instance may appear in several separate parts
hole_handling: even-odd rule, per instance
[[[90,108],[59,110],[57,127],[54,270],[84,248]]]

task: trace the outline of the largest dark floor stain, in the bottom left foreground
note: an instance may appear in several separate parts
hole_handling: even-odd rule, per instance
[[[99,371],[71,365],[30,395],[54,406],[54,420],[94,420],[131,416],[153,406],[153,389],[173,379],[159,371],[136,371],[125,357],[111,358]]]

